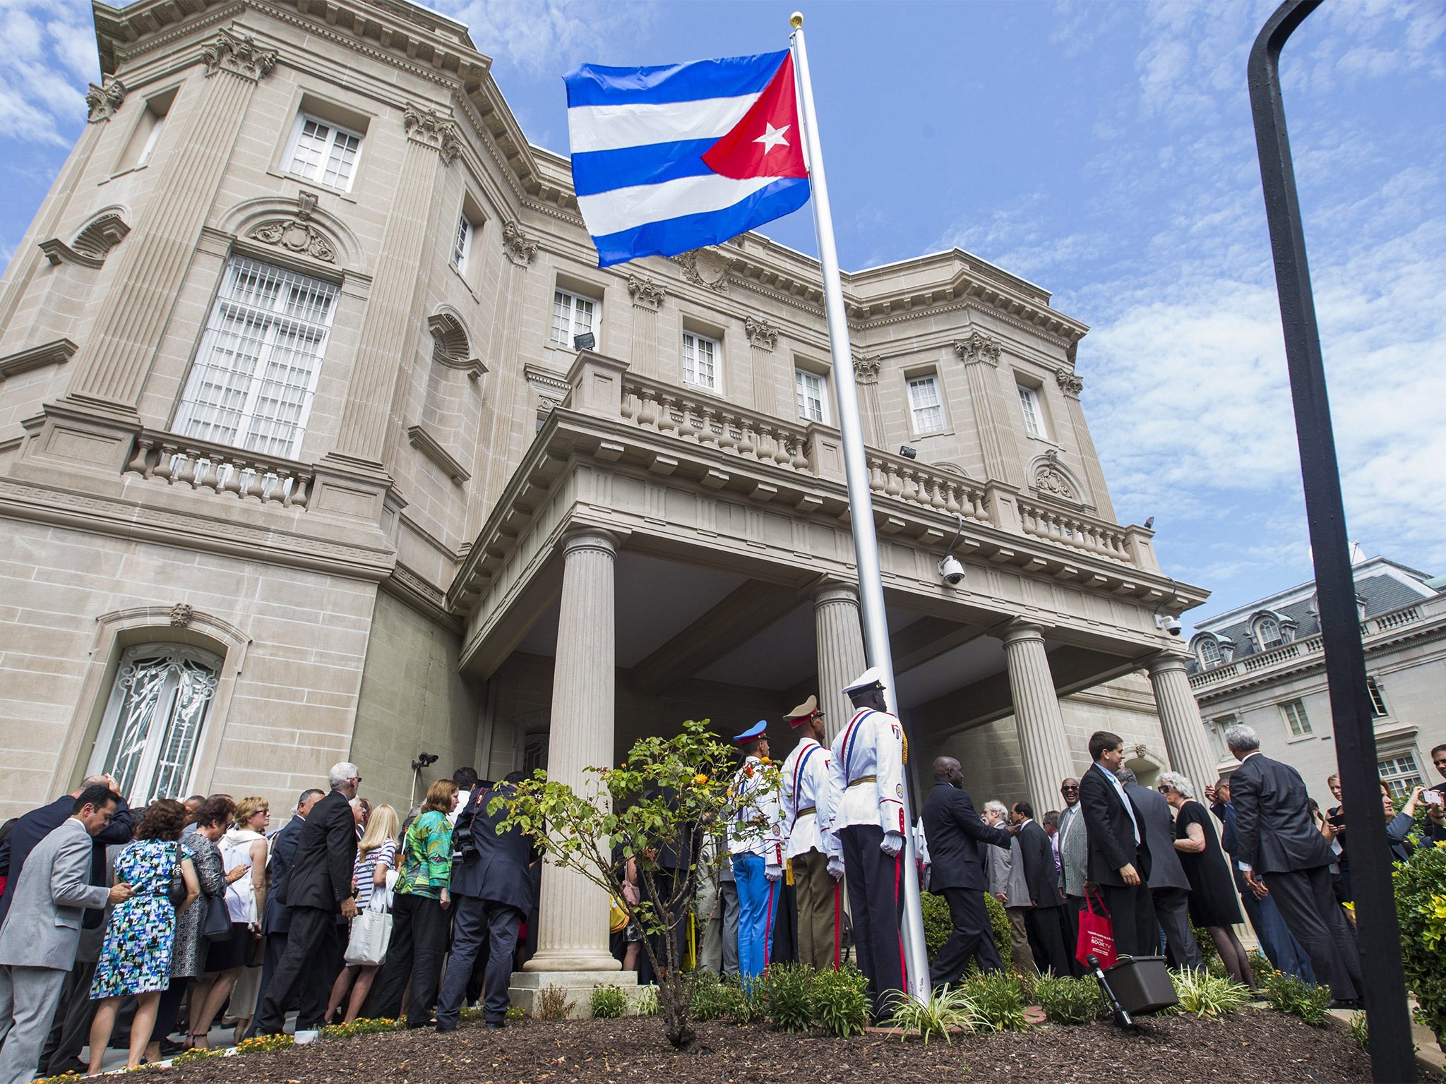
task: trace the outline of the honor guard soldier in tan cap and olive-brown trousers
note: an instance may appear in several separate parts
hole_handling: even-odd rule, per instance
[[[798,896],[798,960],[814,970],[839,965],[839,879],[843,851],[833,834],[833,753],[823,744],[823,713],[810,697],[785,715],[798,744],[784,760],[784,857]]]

